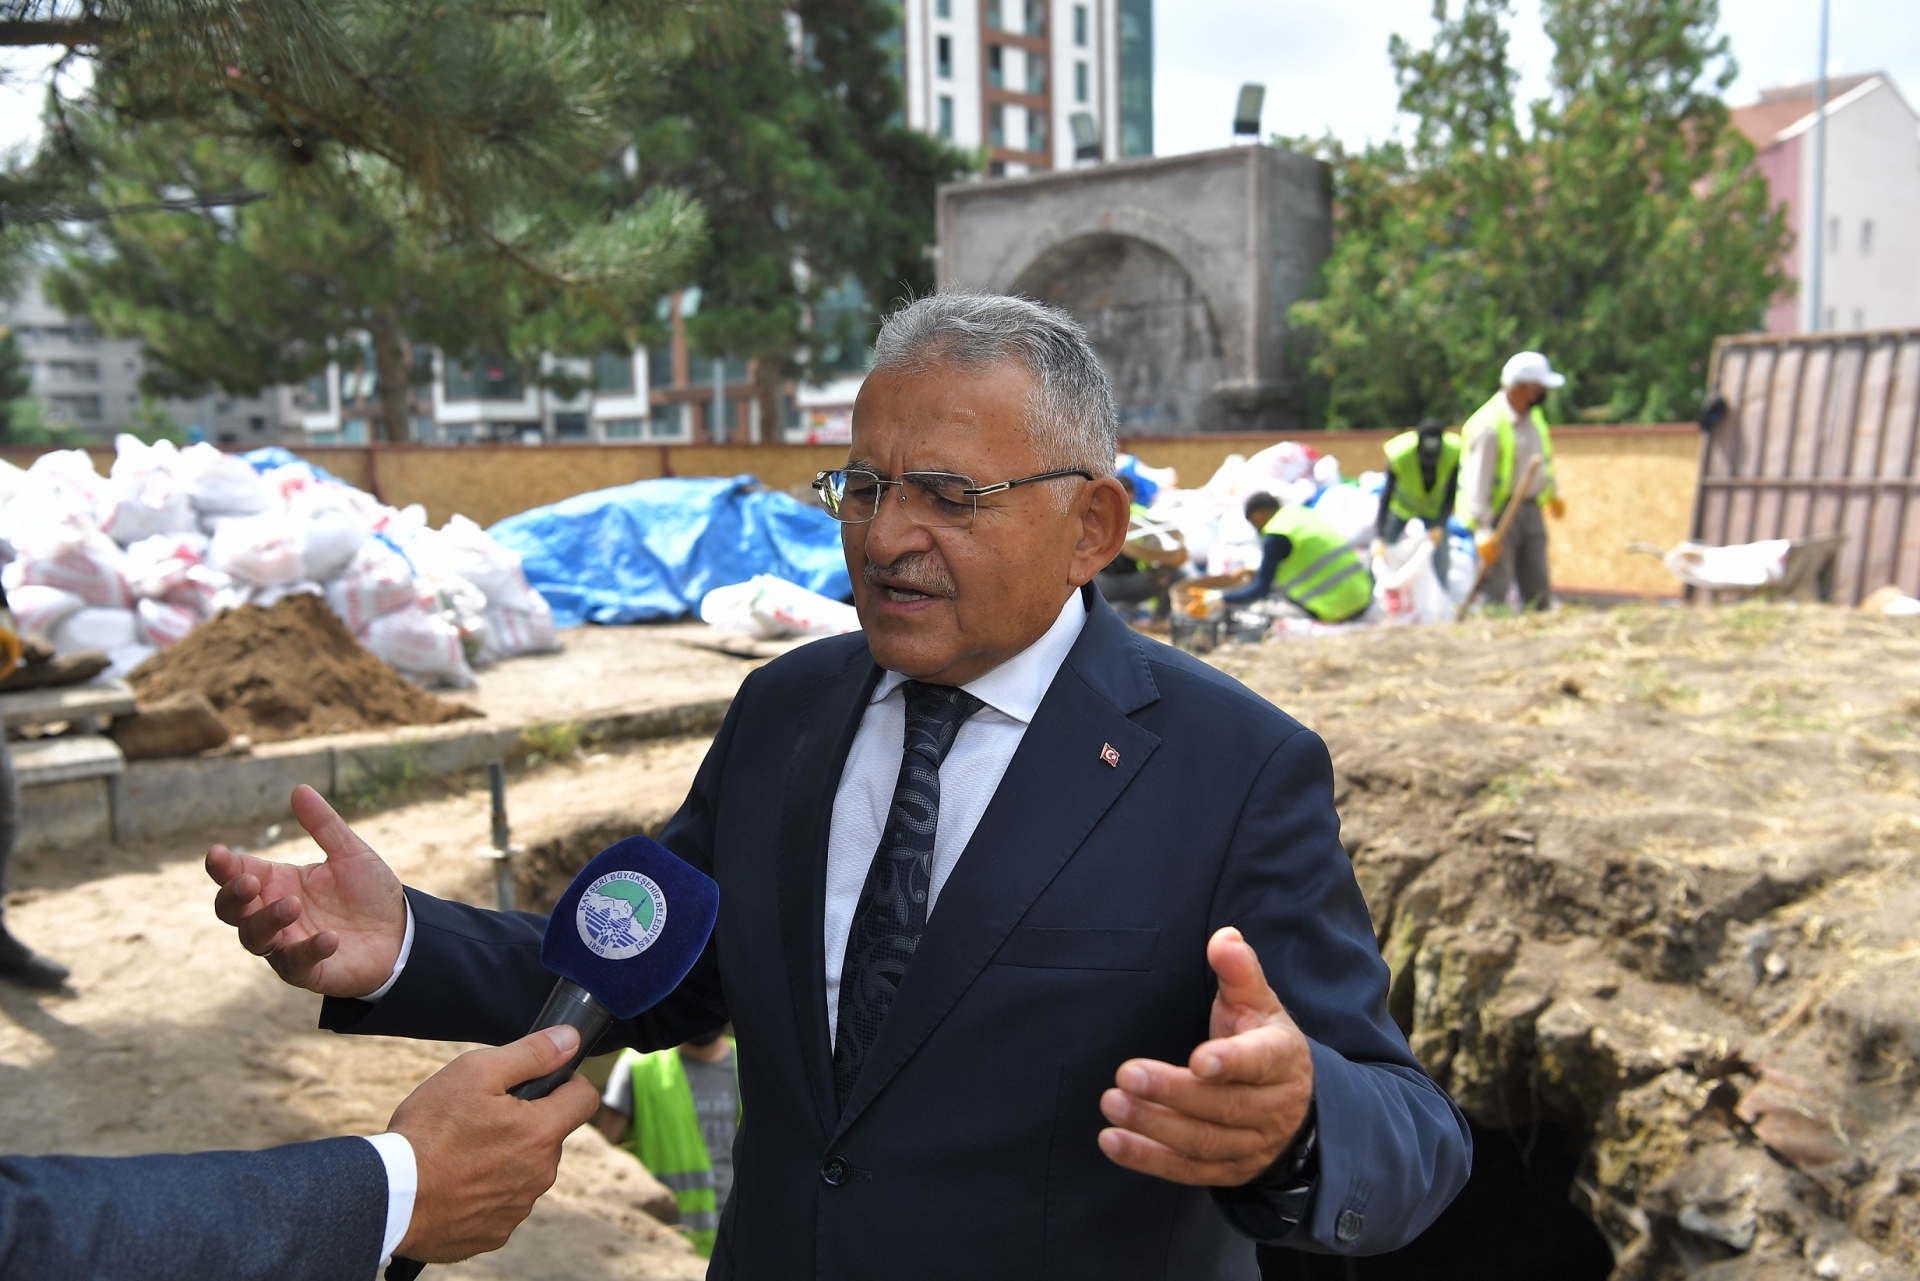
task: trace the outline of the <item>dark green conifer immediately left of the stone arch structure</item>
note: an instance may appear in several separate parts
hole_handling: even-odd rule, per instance
[[[764,411],[781,378],[864,351],[872,303],[933,284],[933,188],[970,159],[900,121],[899,21],[885,0],[801,0],[791,25],[689,50],[634,100],[645,181],[710,227],[687,336],[756,359]]]

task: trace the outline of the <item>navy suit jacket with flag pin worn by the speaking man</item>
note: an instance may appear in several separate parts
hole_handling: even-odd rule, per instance
[[[1467,1181],[1467,1124],[1386,1014],[1325,743],[1087,599],[845,1108],[828,826],[879,668],[858,634],[820,640],[735,697],[660,834],[720,882],[720,922],[682,987],[612,1033],[655,1049],[733,1022],[743,1120],[710,1277],[1252,1277],[1250,1239],[1390,1250]],[[407,970],[323,1026],[524,1035],[551,987],[545,922],[409,893]],[[1221,926],[1313,1043],[1321,1172],[1298,1227],[1256,1189],[1165,1183],[1094,1143],[1125,1058],[1187,1062],[1208,1037]]]

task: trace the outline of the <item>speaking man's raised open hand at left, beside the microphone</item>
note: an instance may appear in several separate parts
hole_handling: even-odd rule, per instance
[[[305,784],[294,787],[294,816],[326,860],[294,866],[215,845],[207,851],[207,876],[221,887],[213,914],[294,987],[323,997],[378,991],[407,937],[399,878]]]

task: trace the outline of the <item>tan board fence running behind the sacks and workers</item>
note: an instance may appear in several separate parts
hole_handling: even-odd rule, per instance
[[[1340,459],[1357,476],[1382,467],[1392,432],[1300,432],[1290,436]],[[1561,426],[1553,430],[1567,520],[1549,522],[1553,586],[1580,595],[1678,599],[1667,568],[1628,544],[1659,547],[1688,538],[1699,490],[1699,428]],[[1288,436],[1219,432],[1133,436],[1121,447],[1152,467],[1173,467],[1181,484],[1206,484],[1233,453],[1250,455]],[[44,447],[0,447],[27,467]],[[90,447],[104,474],[108,447]],[[847,461],[845,446],[323,446],[294,453],[319,463],[396,507],[422,503],[434,524],[453,513],[493,524],[528,507],[574,494],[659,476],[735,476],[751,472],[776,490],[804,492],[814,472]]]

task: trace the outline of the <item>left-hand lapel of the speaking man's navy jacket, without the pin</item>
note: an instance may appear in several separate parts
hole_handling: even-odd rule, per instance
[[[799,1022],[801,1058],[824,1133],[831,1133],[835,1114],[820,924],[826,920],[828,834],[833,826],[833,793],[877,682],[879,668],[862,649],[847,666],[808,689],[801,703],[780,814],[780,937]]]

